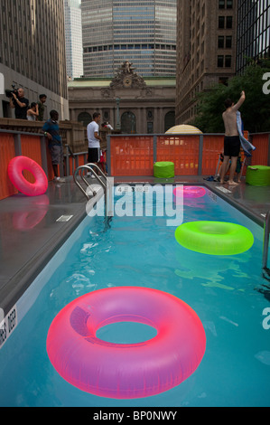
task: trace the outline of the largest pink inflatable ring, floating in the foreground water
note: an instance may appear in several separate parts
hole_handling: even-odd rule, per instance
[[[96,336],[116,322],[153,326],[154,338],[113,344]],[[47,353],[62,378],[84,392],[135,399],[186,380],[205,353],[200,318],[181,299],[151,288],[106,288],[64,307],[51,323]]]

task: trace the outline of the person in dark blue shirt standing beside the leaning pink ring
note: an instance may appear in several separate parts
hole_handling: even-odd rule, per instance
[[[58,166],[63,164],[63,146],[58,124],[59,113],[52,109],[50,119],[45,122],[42,127],[44,136],[49,139],[49,149],[51,153],[51,164],[54,173],[53,181],[56,183],[64,183],[65,179],[61,178],[58,173]]]

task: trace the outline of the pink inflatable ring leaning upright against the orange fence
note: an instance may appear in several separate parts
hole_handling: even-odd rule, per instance
[[[35,178],[34,183],[23,177],[23,170],[28,170]],[[19,192],[27,196],[45,194],[48,189],[48,179],[42,167],[27,156],[15,156],[7,168],[8,176]]]

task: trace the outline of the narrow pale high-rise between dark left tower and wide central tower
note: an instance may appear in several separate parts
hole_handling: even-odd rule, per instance
[[[83,74],[80,0],[64,0],[67,74],[73,80]]]

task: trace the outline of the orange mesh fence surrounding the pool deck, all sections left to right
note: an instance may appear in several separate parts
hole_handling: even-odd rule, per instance
[[[246,134],[247,137],[247,134]],[[18,142],[19,140],[19,142]],[[252,165],[270,165],[270,134],[249,135],[256,150]],[[111,135],[107,140],[107,168],[112,176],[152,176],[154,162],[171,161],[175,175],[214,175],[223,152],[223,135]],[[43,145],[42,145],[43,143]],[[18,147],[19,146],[19,147]],[[7,175],[7,166],[16,155],[29,156],[46,168],[52,180],[51,157],[42,135],[0,131],[0,199],[17,194]],[[87,162],[87,152],[69,157],[68,175]],[[25,172],[33,182],[33,175]]]

